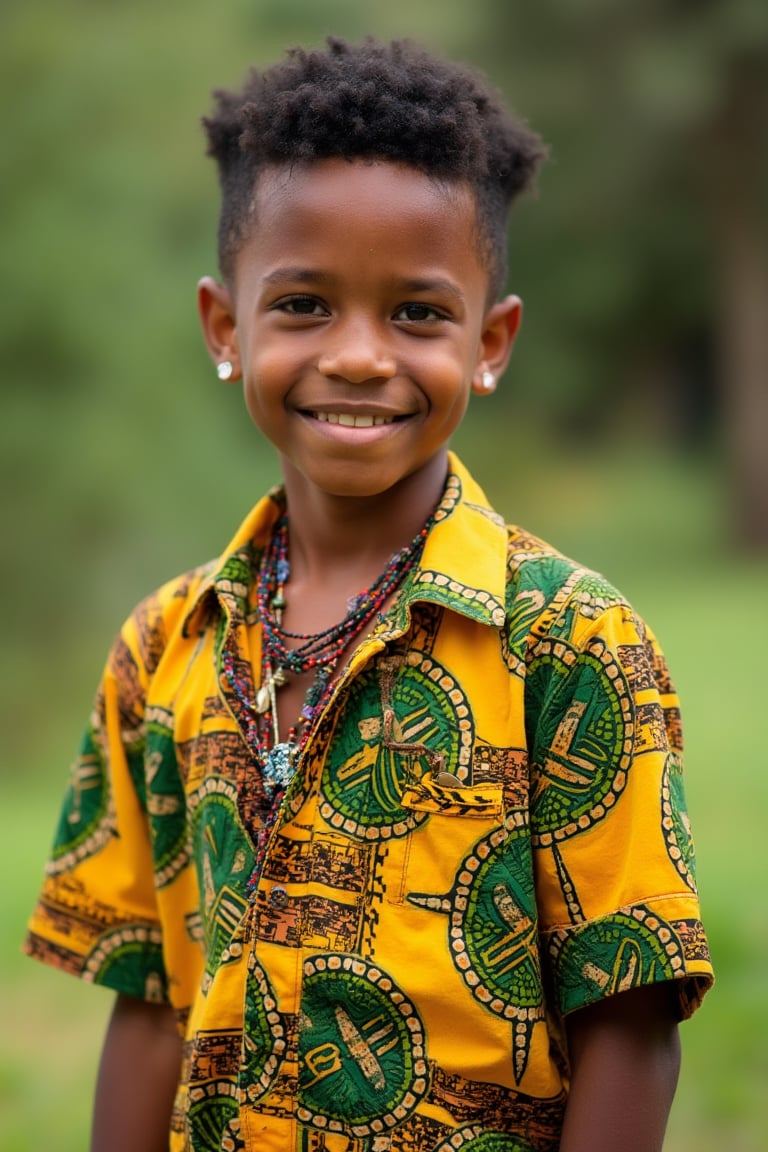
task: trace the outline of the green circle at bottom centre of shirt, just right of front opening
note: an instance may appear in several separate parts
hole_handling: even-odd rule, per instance
[[[381,1135],[426,1096],[424,1025],[380,968],[344,953],[307,960],[302,1018],[301,1123]]]

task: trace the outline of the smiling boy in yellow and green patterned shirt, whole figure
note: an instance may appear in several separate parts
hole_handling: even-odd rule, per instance
[[[541,144],[404,44],[218,99],[199,311],[284,484],[126,624],[74,771],[26,948],[117,992],[92,1147],[660,1149],[712,979],[674,689],[447,447]]]

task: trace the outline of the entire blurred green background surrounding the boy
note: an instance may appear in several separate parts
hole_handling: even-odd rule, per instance
[[[510,237],[524,333],[456,447],[661,637],[718,975],[667,1147],[768,1149],[765,0],[3,0],[0,1142],[86,1145],[109,995],[18,945],[109,641],[276,479],[197,331],[199,118],[329,32],[469,60],[549,142]]]

